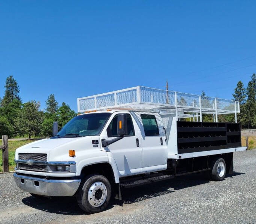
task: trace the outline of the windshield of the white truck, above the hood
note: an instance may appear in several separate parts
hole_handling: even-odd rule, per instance
[[[89,113],[75,116],[58,132],[57,137],[95,136],[100,133],[111,113]]]

